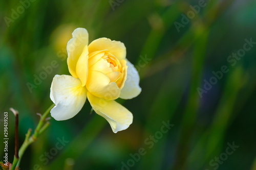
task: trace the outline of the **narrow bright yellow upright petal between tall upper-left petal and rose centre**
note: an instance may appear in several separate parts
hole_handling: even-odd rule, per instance
[[[82,82],[82,86],[86,85],[88,77],[88,46],[84,47],[84,50],[79,57],[76,64],[76,75]]]

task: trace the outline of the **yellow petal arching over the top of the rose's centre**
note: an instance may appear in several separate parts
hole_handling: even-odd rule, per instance
[[[89,53],[105,50],[105,53],[110,53],[118,60],[123,60],[126,57],[126,48],[120,41],[111,41],[109,38],[99,38],[89,44]]]

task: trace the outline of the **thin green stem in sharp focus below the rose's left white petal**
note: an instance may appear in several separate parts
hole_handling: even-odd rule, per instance
[[[26,138],[25,138],[25,141],[23,142],[22,144],[22,147],[20,147],[19,149],[19,152],[18,152],[18,156],[19,156],[19,159],[17,159],[15,156],[14,156],[14,160],[13,160],[13,163],[12,163],[12,167],[11,167],[11,170],[14,170],[16,166],[19,166],[20,164],[20,161],[22,159],[22,156],[24,155],[26,149],[28,148],[28,146],[35,142],[37,140],[37,138],[49,127],[50,123],[47,122],[48,119],[47,119],[47,116],[48,114],[50,113],[50,110],[54,107],[55,105],[51,105],[46,111],[44,114],[40,115],[40,120],[39,120],[39,123],[34,131],[34,133],[31,135],[31,132],[32,132],[32,129],[29,129],[28,130],[28,133],[26,134]]]

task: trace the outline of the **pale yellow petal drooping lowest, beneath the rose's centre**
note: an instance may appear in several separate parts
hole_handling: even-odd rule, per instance
[[[133,123],[133,114],[116,101],[97,98],[88,92],[93,110],[108,120],[114,133],[127,129]]]

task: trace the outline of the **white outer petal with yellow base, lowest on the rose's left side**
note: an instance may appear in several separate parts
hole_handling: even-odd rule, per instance
[[[56,120],[74,117],[86,102],[87,89],[81,81],[72,76],[55,75],[51,85],[50,98],[55,104],[50,111]]]

